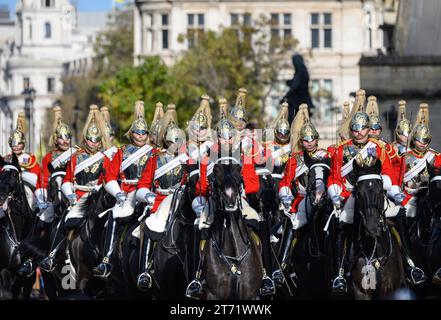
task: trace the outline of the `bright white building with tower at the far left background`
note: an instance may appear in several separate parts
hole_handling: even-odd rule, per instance
[[[39,150],[46,110],[62,92],[66,65],[79,72],[93,55],[92,41],[78,31],[78,15],[68,0],[17,0],[15,14],[13,37],[0,43],[0,154],[9,152],[8,137],[20,111],[28,122],[26,149]]]

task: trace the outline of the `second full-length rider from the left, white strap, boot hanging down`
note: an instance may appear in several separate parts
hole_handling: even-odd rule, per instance
[[[111,258],[125,225],[130,221],[136,205],[136,187],[154,147],[148,144],[148,125],[144,102],[135,102],[135,120],[126,136],[129,144],[118,148],[113,159],[104,161],[105,190],[116,199],[109,213],[103,261],[93,269],[94,276],[107,278],[112,271]]]

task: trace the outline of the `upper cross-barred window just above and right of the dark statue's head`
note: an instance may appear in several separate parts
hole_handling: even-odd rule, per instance
[[[332,48],[331,13],[311,13],[311,48]]]

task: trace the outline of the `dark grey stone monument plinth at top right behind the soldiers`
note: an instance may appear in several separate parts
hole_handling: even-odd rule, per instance
[[[441,149],[441,1],[407,0],[399,4],[389,52],[360,60],[360,85],[378,97],[384,137],[396,126],[398,101],[407,101],[415,122],[421,102],[430,110],[432,147]]]

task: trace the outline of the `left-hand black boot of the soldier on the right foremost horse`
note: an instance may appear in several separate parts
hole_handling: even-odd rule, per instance
[[[349,236],[346,224],[341,224],[337,231],[337,264],[338,275],[332,281],[332,294],[343,295],[348,292],[348,285],[345,279],[345,268],[347,264],[347,254],[349,252]]]

